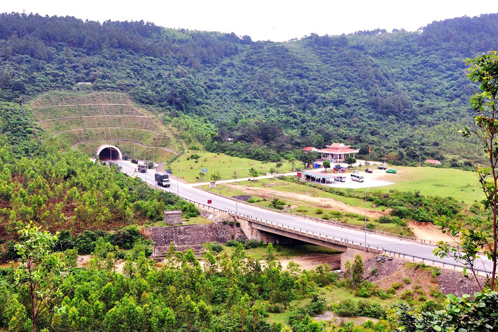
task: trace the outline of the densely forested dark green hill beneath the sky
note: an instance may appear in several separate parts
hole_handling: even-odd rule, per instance
[[[475,150],[467,142],[461,151],[456,134],[471,122],[468,99],[476,88],[464,60],[497,45],[497,14],[419,32],[311,34],[274,43],[141,21],[4,13],[0,100],[18,103],[91,82],[89,89],[125,91],[180,117],[179,127],[196,127],[184,138],[197,133],[212,151],[259,151],[252,157],[272,159],[343,141],[362,153],[372,146],[373,157],[384,146],[397,162],[449,162]]]

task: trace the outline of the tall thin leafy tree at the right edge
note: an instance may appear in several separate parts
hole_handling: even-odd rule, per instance
[[[487,155],[487,165],[477,167],[478,179],[486,199],[485,208],[492,212],[492,233],[462,229],[452,222],[439,222],[442,231],[457,238],[461,250],[440,243],[435,253],[440,257],[451,255],[476,274],[480,251],[492,262],[490,273],[490,289],[496,287],[497,276],[497,213],[498,213],[498,56],[496,51],[468,58],[468,79],[480,84],[480,91],[471,98],[471,106],[477,113],[473,130],[461,131],[464,136],[475,136]],[[481,286],[481,288],[483,288]]]

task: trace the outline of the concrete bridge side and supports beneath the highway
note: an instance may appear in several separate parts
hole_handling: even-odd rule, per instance
[[[340,269],[344,271],[344,264],[347,260],[353,262],[356,255],[362,256],[363,260],[369,260],[376,255],[383,253],[378,248],[366,247],[364,243],[354,243],[347,238],[328,236],[307,229],[300,229],[294,226],[257,220],[241,215],[232,215],[240,224],[245,236],[249,239],[263,241],[264,243],[291,244],[296,241],[321,245],[332,248],[343,253],[340,255]]]

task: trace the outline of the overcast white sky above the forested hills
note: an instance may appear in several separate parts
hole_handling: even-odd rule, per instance
[[[2,0],[1,13],[144,20],[162,27],[235,32],[253,41],[381,28],[416,31],[434,20],[498,13],[497,0]]]

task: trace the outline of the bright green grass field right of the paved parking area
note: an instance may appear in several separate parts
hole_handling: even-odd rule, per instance
[[[472,204],[474,201],[484,199],[483,190],[475,172],[435,167],[395,168],[398,171],[397,174],[386,174],[385,177],[395,184],[375,187],[370,190],[383,193],[392,189],[420,191],[422,195],[426,196],[453,197],[465,204]]]

